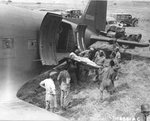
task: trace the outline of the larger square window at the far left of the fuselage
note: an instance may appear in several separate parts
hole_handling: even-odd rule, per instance
[[[3,49],[12,49],[14,47],[14,39],[13,38],[4,38],[2,40]]]

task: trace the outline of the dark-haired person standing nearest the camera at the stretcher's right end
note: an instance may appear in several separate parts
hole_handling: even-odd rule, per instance
[[[111,60],[109,63],[109,67],[104,68],[101,73],[102,76],[102,83],[100,84],[100,99],[103,100],[103,91],[106,90],[110,95],[114,92],[114,79],[115,79],[115,68],[114,68],[114,61]]]

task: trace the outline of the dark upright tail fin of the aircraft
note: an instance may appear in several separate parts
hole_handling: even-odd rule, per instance
[[[99,33],[105,30],[106,13],[106,0],[89,0],[84,15],[81,18],[81,23],[86,24],[91,31]]]

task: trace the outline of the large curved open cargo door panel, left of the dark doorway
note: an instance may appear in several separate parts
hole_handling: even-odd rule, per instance
[[[40,27],[40,57],[43,65],[56,65],[56,42],[62,17],[47,13]]]

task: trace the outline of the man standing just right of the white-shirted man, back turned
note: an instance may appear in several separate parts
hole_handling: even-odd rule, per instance
[[[59,73],[57,80],[60,82],[61,96],[60,96],[60,106],[62,110],[66,109],[66,102],[68,102],[68,95],[70,92],[70,75],[67,70],[63,70]]]

